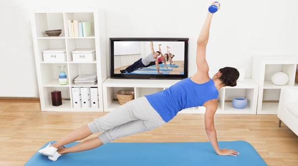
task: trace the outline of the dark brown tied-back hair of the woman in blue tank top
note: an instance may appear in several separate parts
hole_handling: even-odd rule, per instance
[[[220,80],[225,86],[236,86],[239,72],[232,67],[225,67],[219,70],[222,73]]]

